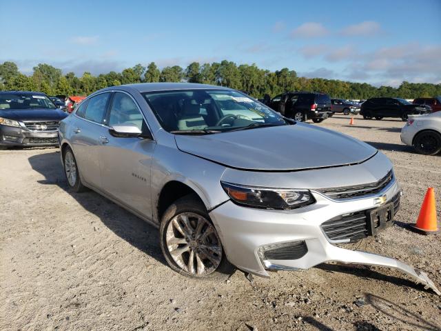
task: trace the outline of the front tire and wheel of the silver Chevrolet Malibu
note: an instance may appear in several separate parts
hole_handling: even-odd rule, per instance
[[[165,260],[179,274],[220,279],[234,271],[205,205],[192,194],[167,208],[160,235]]]

